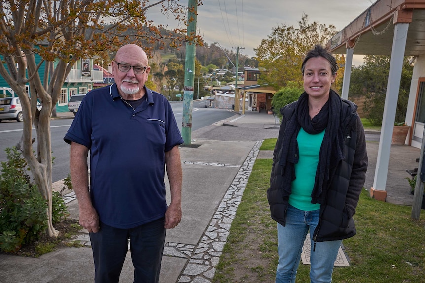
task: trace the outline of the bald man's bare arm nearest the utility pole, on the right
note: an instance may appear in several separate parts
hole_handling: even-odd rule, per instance
[[[165,166],[168,181],[170,182],[171,202],[165,212],[166,229],[172,229],[181,221],[181,187],[183,184],[183,170],[181,169],[180,151],[178,145],[165,152]]]

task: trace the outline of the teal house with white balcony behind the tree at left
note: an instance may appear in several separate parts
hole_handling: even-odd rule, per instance
[[[37,55],[36,55],[37,56]],[[38,57],[38,56],[37,56]],[[36,63],[40,58],[36,57]],[[2,57],[0,56],[0,59]],[[61,88],[59,99],[56,104],[56,112],[68,112],[68,101],[74,94],[87,94],[93,89],[94,84],[104,82],[104,72],[94,67],[94,59],[80,59],[73,66]],[[45,64],[39,68],[41,80],[44,76]],[[31,96],[29,84],[26,85],[27,94]],[[14,97],[13,90],[0,76],[0,97]]]

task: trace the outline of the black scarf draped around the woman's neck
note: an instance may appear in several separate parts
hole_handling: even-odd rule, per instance
[[[326,129],[319,152],[315,185],[311,194],[312,203],[323,203],[329,185],[329,171],[332,162],[337,164],[344,158],[344,137],[341,129],[342,100],[333,90],[329,100],[320,112],[310,119],[308,94],[304,92],[298,99],[294,113],[285,128],[282,142],[282,154],[279,165],[282,168],[282,196],[288,197],[292,191],[291,183],[295,180],[294,164],[298,163],[297,136],[302,127],[308,134],[318,134]]]

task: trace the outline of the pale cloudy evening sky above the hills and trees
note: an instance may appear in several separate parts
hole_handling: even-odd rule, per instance
[[[150,2],[156,2],[151,0]],[[188,5],[188,0],[180,0]],[[203,0],[198,7],[197,33],[208,44],[218,42],[222,48],[255,56],[254,48],[272,33],[272,28],[287,25],[297,28],[303,14],[309,23],[334,25],[344,29],[375,0]],[[148,19],[155,24],[176,28],[175,20],[161,15],[158,8],[150,8]],[[354,56],[353,64],[360,65],[362,56]]]

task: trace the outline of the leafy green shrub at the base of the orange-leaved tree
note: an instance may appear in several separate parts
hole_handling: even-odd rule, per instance
[[[8,161],[1,162],[0,175],[0,249],[15,252],[22,245],[38,240],[45,232],[48,206],[27,174],[30,169],[21,152],[16,147],[5,151]],[[69,187],[67,184],[68,181],[64,187]],[[52,207],[53,223],[68,216],[59,192],[53,192]]]

